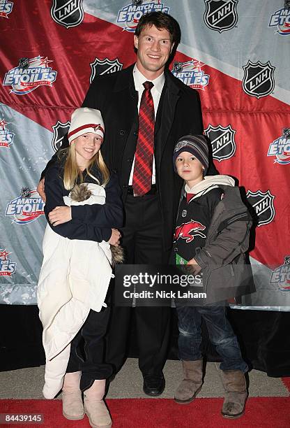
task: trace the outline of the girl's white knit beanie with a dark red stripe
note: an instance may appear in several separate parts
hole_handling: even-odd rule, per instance
[[[68,130],[68,142],[71,143],[75,138],[86,134],[86,132],[93,132],[104,138],[105,127],[100,110],[82,107],[73,112],[70,129]]]

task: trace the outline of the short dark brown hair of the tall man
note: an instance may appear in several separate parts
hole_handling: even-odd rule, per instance
[[[158,29],[167,29],[170,34],[171,43],[174,44],[175,49],[177,48],[178,43],[181,41],[181,29],[174,17],[163,12],[145,13],[137,24],[135,36],[139,37],[142,29],[147,25],[149,27],[155,25]]]

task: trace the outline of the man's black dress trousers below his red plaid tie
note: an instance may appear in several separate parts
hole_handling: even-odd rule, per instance
[[[127,264],[162,264],[162,219],[158,194],[133,197],[125,202],[122,245]],[[132,317],[135,311],[135,317]],[[112,306],[107,335],[106,361],[119,371],[125,362],[132,319],[136,322],[139,369],[144,375],[160,374],[167,357],[170,331],[169,307]]]

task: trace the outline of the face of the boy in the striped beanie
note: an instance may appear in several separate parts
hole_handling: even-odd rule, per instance
[[[175,161],[178,176],[192,187],[203,180],[204,166],[190,152],[181,152]]]

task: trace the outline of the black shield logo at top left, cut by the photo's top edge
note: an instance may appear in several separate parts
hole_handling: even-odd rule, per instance
[[[56,24],[77,27],[84,19],[83,0],[52,0],[50,15]]]

